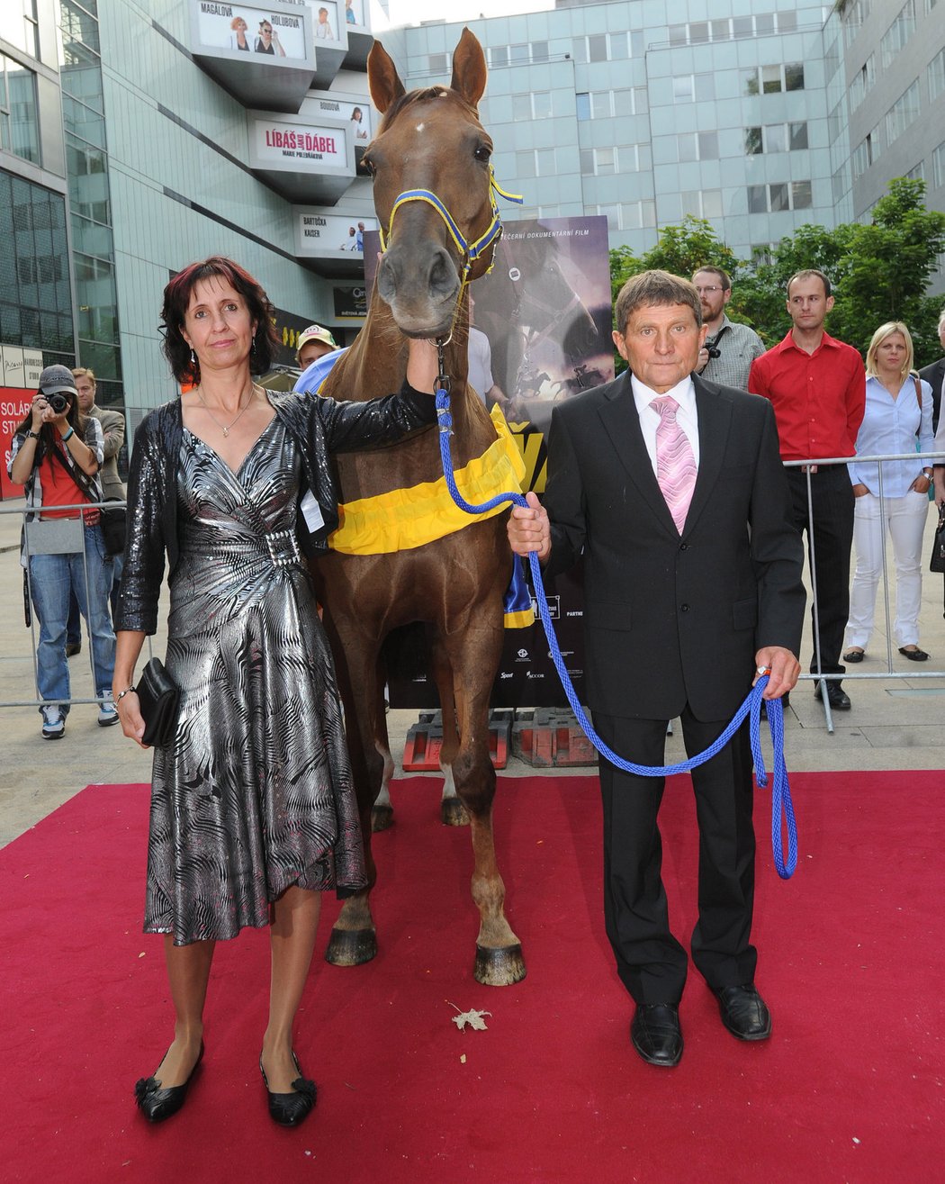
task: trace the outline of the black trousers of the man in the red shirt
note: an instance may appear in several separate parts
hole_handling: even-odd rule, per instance
[[[814,654],[812,674],[817,673],[817,632],[819,623],[821,670],[843,674],[840,664],[843,632],[850,612],[850,548],[853,546],[853,511],[856,498],[846,464],[819,465],[810,474],[810,500],[814,520],[814,554],[811,554],[810,520],[808,517],[808,475],[801,469],[786,469],[791,489],[791,520],[803,534],[808,530],[808,561],[817,574],[816,600],[811,603],[811,636]],[[811,579],[814,577],[811,575]],[[817,616],[815,618],[815,604]]]

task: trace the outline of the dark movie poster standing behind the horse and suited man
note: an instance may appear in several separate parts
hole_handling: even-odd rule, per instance
[[[366,240],[373,284],[378,239]],[[613,378],[610,256],[604,217],[545,218],[506,224],[489,275],[471,285],[472,327],[486,334],[493,393],[526,462],[525,488],[545,491],[545,436],[555,404]],[[528,565],[526,564],[526,567]],[[580,572],[547,590],[565,667],[584,688]],[[398,630],[385,646],[393,707],[435,708],[422,628]],[[566,707],[545,630],[507,629],[493,707]]]

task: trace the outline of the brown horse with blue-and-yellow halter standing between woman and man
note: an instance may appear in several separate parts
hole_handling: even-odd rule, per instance
[[[368,81],[384,120],[364,161],[374,178],[374,206],[387,232],[386,251],[365,327],[322,393],[369,399],[393,391],[406,373],[407,336],[445,339],[451,334],[445,372],[452,384],[451,448],[458,471],[496,440],[491,419],[465,385],[465,282],[486,271],[493,250],[488,246],[470,260],[462,246],[462,239],[475,243],[481,238],[494,217],[491,141],[476,110],[486,89],[486,58],[476,38],[464,30],[454,53],[450,86],[406,94],[393,62],[375,43],[368,57]],[[442,201],[461,232],[461,244],[429,201],[398,204],[405,191],[417,188]],[[338,472],[342,504],[436,482],[443,474],[437,431],[381,451],[339,456]],[[469,519],[456,533],[388,554],[332,551],[319,560],[315,573],[345,701],[372,887],[377,877],[371,855],[372,806],[393,767],[380,648],[392,629],[427,623],[444,721],[444,821],[458,821],[456,813],[463,806],[469,816],[472,899],[481,920],[475,977],[494,985],[525,977],[521,946],[506,920],[504,884],[495,858],[495,773],[488,733],[489,694],[502,646],[502,598],[512,565],[504,517],[503,513]],[[345,902],[326,955],[329,961],[356,965],[377,953],[368,894],[369,888]]]

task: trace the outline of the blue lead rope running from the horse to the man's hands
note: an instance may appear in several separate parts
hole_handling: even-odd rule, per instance
[[[488,510],[495,509],[496,506],[501,506],[503,502],[512,502],[514,506],[527,507],[528,502],[525,497],[522,497],[521,494],[515,493],[496,494],[495,497],[490,497],[488,502],[483,502],[481,506],[472,506],[463,497],[456,485],[456,477],[452,471],[452,456],[450,453],[450,435],[452,427],[450,397],[442,386],[439,386],[436,393],[436,405],[437,416],[439,418],[439,455],[443,461],[443,476],[445,477],[446,487],[452,496],[452,500],[459,509],[464,510],[467,514],[484,514]],[[558,638],[554,633],[554,624],[551,619],[548,600],[545,596],[545,586],[541,579],[541,566],[538,561],[538,554],[534,551],[529,553],[528,562],[532,570],[532,585],[535,590],[539,616],[541,617],[541,624],[545,626],[545,636],[548,639],[548,649],[558,671],[558,677],[561,680],[565,695],[567,696],[567,701],[571,704],[571,709],[574,713],[581,731],[602,757],[609,760],[617,768],[622,770],[624,773],[635,773],[638,777],[669,777],[673,773],[688,773],[696,766],[705,765],[707,760],[712,760],[712,758],[728,744],[747,715],[748,740],[751,742],[752,760],[754,761],[754,777],[761,789],[767,786],[767,772],[765,771],[760,738],[761,691],[767,686],[767,675],[763,675],[752,687],[746,695],[745,701],[732,718],[732,721],[715,740],[715,742],[709,745],[705,752],[699,753],[699,755],[689,757],[688,760],[681,760],[675,765],[658,766],[635,765],[630,760],[624,760],[623,757],[618,757],[617,753],[609,748],[600,736],[598,736],[591,725],[591,721],[587,719],[584,708],[578,702],[574,684],[572,683],[571,676],[565,667],[564,658],[561,657],[561,650],[558,645]],[[771,729],[774,764],[774,780],[771,791],[771,850],[774,856],[774,869],[778,875],[782,880],[790,880],[795,873],[795,868],[797,867],[797,822],[795,821],[793,803],[791,802],[791,787],[787,784],[787,766],[784,764],[784,708],[779,699],[767,700],[767,722]],[[784,817],[784,828],[787,831],[786,863],[784,860],[782,842],[782,816]]]

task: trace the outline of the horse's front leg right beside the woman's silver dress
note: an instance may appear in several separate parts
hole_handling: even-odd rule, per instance
[[[371,850],[371,810],[380,785],[384,760],[374,747],[375,722],[372,707],[377,702],[377,649],[364,637],[343,633],[329,614],[324,625],[335,654],[339,691],[345,704],[345,731],[348,738],[354,791],[365,845],[367,886],[341,906],[332,928],[324,960],[333,966],[360,966],[378,952],[374,918],[371,914],[371,889],[378,869]],[[342,626],[343,628],[343,626]]]

